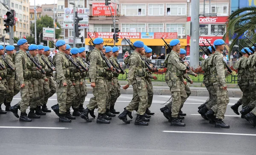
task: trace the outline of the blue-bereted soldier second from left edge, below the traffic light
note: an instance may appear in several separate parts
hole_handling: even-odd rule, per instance
[[[12,66],[12,68],[15,69],[14,60],[13,60],[13,53],[14,53],[15,47],[13,45],[7,45],[5,49],[6,49],[6,55],[4,56],[4,58]],[[7,96],[4,104],[6,106],[6,111],[10,111],[13,96],[17,95],[17,93],[19,93],[20,91],[20,86],[15,76],[15,71],[11,70],[10,68],[7,68],[6,81],[8,83],[9,89],[7,90]]]

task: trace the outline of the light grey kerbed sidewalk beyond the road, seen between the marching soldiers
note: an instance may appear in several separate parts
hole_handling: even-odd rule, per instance
[[[86,81],[87,83],[87,92],[92,93],[92,88],[90,87],[89,80]],[[133,94],[132,85],[127,90],[122,89],[122,86],[126,85],[127,81],[119,81],[121,85],[121,94]],[[153,84],[153,92],[154,95],[171,95],[170,88],[167,86],[166,82],[152,82]],[[204,84],[202,83],[189,83],[189,87],[191,90],[190,96],[209,96],[209,93],[206,87],[203,87]],[[242,92],[236,84],[228,84],[227,90],[229,97],[241,97]]]

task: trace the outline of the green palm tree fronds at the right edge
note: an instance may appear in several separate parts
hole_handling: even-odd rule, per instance
[[[243,12],[245,13],[241,14]],[[228,38],[232,40],[230,49],[233,48],[240,36],[249,36],[253,42],[256,42],[256,7],[244,7],[234,11],[226,22],[226,28],[227,31],[223,39]],[[250,45],[250,42],[247,43]],[[229,55],[231,51],[232,50],[229,51]]]

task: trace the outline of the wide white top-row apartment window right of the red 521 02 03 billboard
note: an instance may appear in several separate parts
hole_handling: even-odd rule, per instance
[[[122,5],[122,14],[125,16],[145,16],[146,5]]]

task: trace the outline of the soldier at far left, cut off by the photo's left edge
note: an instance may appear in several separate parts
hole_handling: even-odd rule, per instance
[[[7,112],[2,110],[1,105],[3,104],[7,91],[9,90],[8,88],[8,83],[6,82],[7,78],[7,70],[6,70],[6,64],[2,59],[2,55],[4,55],[4,49],[3,46],[0,45],[0,114],[6,114]]]

